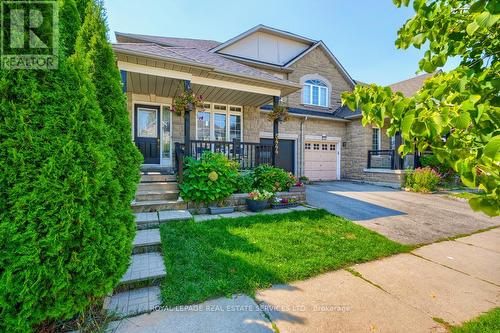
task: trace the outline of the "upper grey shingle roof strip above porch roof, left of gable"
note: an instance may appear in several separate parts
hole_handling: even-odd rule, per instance
[[[152,42],[163,46],[194,47],[204,51],[208,51],[221,44],[220,42],[217,42],[215,40],[149,36],[123,32],[115,32],[115,36],[118,43],[126,43],[132,40],[139,40],[144,42]]]

